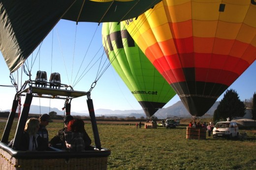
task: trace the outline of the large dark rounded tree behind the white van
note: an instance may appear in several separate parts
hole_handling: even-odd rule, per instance
[[[243,117],[245,115],[245,104],[238,97],[235,90],[227,90],[223,99],[217,107],[217,113],[222,119]]]

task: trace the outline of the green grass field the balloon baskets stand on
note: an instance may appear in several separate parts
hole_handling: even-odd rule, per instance
[[[10,139],[14,136],[15,126]],[[2,136],[5,122],[0,122]],[[50,138],[63,127],[52,122]],[[93,140],[91,124],[86,129]],[[256,130],[242,139],[186,139],[186,126],[166,129],[136,129],[133,123],[98,124],[102,147],[111,149],[108,170],[256,170]],[[244,132],[245,130],[240,130]]]

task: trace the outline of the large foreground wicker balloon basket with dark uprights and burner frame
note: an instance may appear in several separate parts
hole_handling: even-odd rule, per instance
[[[107,158],[111,151],[102,148],[100,144],[93,100],[90,92],[74,91],[71,86],[58,83],[59,88],[53,88],[53,82],[43,82],[42,87],[37,84],[41,81],[26,81],[24,86],[15,95],[12,109],[6,122],[0,142],[0,170],[106,170]],[[29,85],[29,87],[27,87]],[[9,134],[18,107],[18,98],[26,96],[23,109],[17,124],[12,146],[8,146]],[[65,99],[66,115],[70,114],[72,98],[87,96],[87,105],[94,133],[94,150],[70,152],[49,147],[46,151],[21,151],[20,141],[24,127],[29,116],[30,105],[33,97]]]

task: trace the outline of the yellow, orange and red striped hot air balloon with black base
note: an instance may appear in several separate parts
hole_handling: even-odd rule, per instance
[[[126,27],[192,116],[256,59],[254,0],[163,0]]]

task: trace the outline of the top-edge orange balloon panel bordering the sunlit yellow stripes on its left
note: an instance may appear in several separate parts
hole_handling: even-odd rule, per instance
[[[177,0],[179,1],[179,0]],[[178,23],[191,20],[191,2],[176,6],[165,6],[168,22]]]

